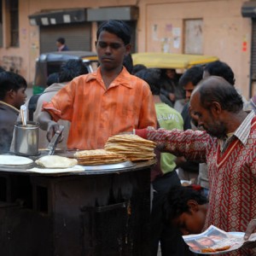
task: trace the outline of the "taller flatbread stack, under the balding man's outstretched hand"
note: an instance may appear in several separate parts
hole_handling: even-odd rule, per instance
[[[134,134],[119,134],[108,138],[107,151],[125,154],[127,160],[151,160],[154,158],[156,144]]]

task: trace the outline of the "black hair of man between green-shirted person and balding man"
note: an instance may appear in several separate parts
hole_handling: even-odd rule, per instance
[[[194,67],[190,67],[188,70],[183,73],[178,81],[178,85],[180,87],[184,87],[186,84],[191,82],[194,86],[196,86],[203,77],[204,69],[201,65],[196,65]]]

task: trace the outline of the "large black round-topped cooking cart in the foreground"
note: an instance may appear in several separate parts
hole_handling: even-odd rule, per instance
[[[148,256],[154,163],[50,174],[0,165],[1,256]]]

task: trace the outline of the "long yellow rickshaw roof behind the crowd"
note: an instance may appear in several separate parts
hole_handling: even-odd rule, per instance
[[[146,67],[186,69],[195,65],[218,61],[218,57],[147,52],[132,54],[132,60],[133,65],[143,64]]]

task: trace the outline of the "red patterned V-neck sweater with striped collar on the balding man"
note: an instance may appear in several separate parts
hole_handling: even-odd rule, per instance
[[[256,117],[252,113],[220,150],[219,140],[205,131],[137,130],[164,151],[188,160],[207,162],[210,184],[205,229],[211,224],[224,231],[242,231],[256,217]],[[230,255],[255,255],[236,251]]]

